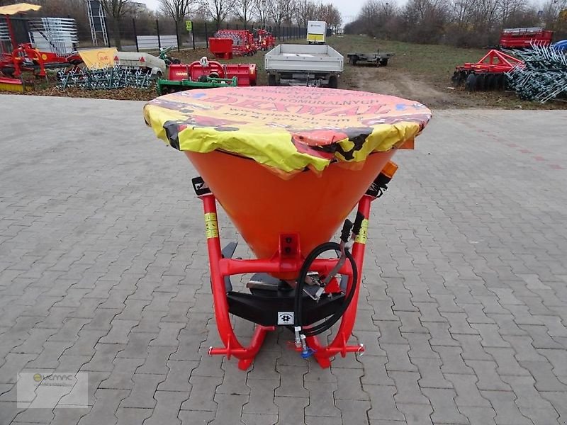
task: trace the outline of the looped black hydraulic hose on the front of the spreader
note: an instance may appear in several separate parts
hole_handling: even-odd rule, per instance
[[[303,285],[305,284],[305,279],[307,278],[307,273],[309,272],[309,268],[313,261],[318,258],[321,254],[325,253],[326,251],[341,251],[341,246],[336,242],[326,242],[325,244],[320,244],[319,246],[315,246],[315,249],[309,253],[305,261],[303,262],[303,266],[301,266],[301,270],[299,271],[299,277],[297,280],[296,285],[296,294],[294,298],[294,316],[295,316],[295,325],[299,327],[303,327]],[[318,324],[315,327],[311,327],[308,329],[302,329],[302,333],[305,336],[315,336],[321,334],[322,332],[330,329],[333,324],[337,323],[337,321],[342,317],[342,314],[347,310],[350,303],[352,302],[352,298],[354,297],[354,292],[357,288],[358,282],[358,270],[357,270],[357,263],[354,261],[354,257],[350,253],[348,249],[344,249],[344,255],[347,257],[349,262],[351,263],[352,267],[352,285],[347,293],[347,296],[344,298],[344,302],[342,306],[337,310],[332,316],[327,318],[325,322]]]

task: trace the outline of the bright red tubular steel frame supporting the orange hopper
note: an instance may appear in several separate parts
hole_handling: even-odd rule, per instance
[[[203,200],[206,217],[209,219],[207,223],[207,248],[210,263],[210,283],[213,292],[217,328],[220,339],[224,344],[224,347],[210,347],[208,353],[210,355],[227,356],[227,358],[235,356],[239,359],[238,367],[242,370],[246,370],[249,368],[249,365],[252,364],[254,357],[262,347],[266,333],[268,331],[274,331],[276,327],[265,327],[257,324],[249,346],[242,346],[242,344],[238,341],[235,332],[232,330],[224,278],[225,276],[244,273],[298,273],[303,265],[303,257],[301,256],[301,250],[299,249],[300,244],[298,241],[298,235],[296,235],[296,244],[298,249],[296,249],[293,256],[283,254],[283,250],[280,250],[279,253],[271,259],[224,259],[221,254],[220,235],[218,232],[218,222],[216,220],[216,198],[212,193],[208,193],[201,196],[201,199]],[[358,212],[364,215],[366,220],[369,219],[370,203],[374,199],[376,198],[364,195],[359,200]],[[210,217],[213,218],[211,219]],[[366,231],[366,229],[364,229],[364,231]],[[288,238],[290,235],[286,234],[285,236]],[[328,346],[322,346],[316,336],[310,336],[306,339],[308,346],[315,351],[313,354],[315,360],[318,361],[322,368],[330,367],[330,357],[337,354],[344,357],[347,353],[364,352],[364,346],[362,344],[348,344],[354,327],[354,322],[357,317],[357,302],[362,276],[362,263],[364,261],[364,250],[366,248],[366,238],[362,239],[364,240],[361,240],[361,242],[354,242],[354,245],[352,246],[352,256],[354,257],[358,270],[357,287],[355,288],[352,302],[342,316],[335,339],[333,339],[331,344]],[[322,274],[328,274],[336,265],[337,261],[337,259],[317,259],[313,262],[310,271],[318,271]],[[339,270],[339,273],[349,276],[347,284],[348,293],[353,284],[352,267],[348,261],[344,263],[344,266],[342,266]]]

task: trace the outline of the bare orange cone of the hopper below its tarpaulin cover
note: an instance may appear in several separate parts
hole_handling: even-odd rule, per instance
[[[304,255],[327,242],[393,152],[369,155],[360,170],[334,163],[322,176],[305,171],[289,180],[236,155],[186,155],[254,254],[268,259],[276,254],[282,233],[298,233]]]

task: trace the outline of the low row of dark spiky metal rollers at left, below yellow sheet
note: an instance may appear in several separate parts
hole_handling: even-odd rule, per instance
[[[108,90],[134,87],[147,89],[152,84],[151,71],[112,67],[104,69],[82,69],[75,67],[69,72],[59,72],[60,89],[77,87],[84,90]]]

